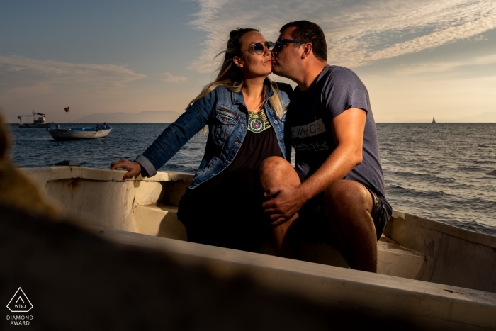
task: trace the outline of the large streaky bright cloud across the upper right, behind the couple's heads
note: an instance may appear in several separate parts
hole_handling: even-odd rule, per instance
[[[205,31],[203,52],[188,69],[212,72],[227,35],[238,26],[277,38],[288,21],[308,19],[325,32],[329,62],[360,67],[421,52],[496,28],[494,0],[198,0],[189,23]],[[277,13],[277,15],[274,15]]]

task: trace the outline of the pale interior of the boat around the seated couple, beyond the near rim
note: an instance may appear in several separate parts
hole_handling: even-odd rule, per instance
[[[74,223],[187,241],[177,218],[192,175],[158,172],[123,181],[123,171],[84,167],[22,169],[59,201]],[[205,218],[211,215],[205,211]],[[301,242],[307,262],[348,268],[325,243]],[[268,241],[261,254],[274,255]],[[496,237],[393,211],[378,241],[378,274],[496,292]]]

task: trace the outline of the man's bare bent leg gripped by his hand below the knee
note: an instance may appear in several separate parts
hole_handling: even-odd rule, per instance
[[[269,157],[260,166],[260,183],[264,191],[278,185],[300,185],[300,178],[291,164],[282,157]],[[271,245],[280,257],[295,257],[295,240],[292,227],[298,218],[292,218],[271,229]]]

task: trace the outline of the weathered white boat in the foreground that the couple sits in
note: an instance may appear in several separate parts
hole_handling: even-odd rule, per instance
[[[378,274],[347,268],[326,244],[302,242],[303,259],[187,242],[177,219],[179,199],[193,175],[157,172],[122,180],[124,171],[84,167],[21,169],[67,217],[94,235],[124,247],[154,249],[213,274],[249,276],[337,308],[400,315],[421,329],[496,329],[496,237],[393,211],[378,242]],[[205,211],[205,222],[215,213]]]

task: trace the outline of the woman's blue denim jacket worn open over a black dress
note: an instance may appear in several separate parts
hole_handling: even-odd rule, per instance
[[[268,82],[266,80],[271,97],[274,90]],[[283,105],[281,118],[276,116],[268,100],[264,105],[267,118],[276,131],[279,147],[288,161],[291,158],[291,147],[286,150],[284,123],[289,104],[288,94],[292,91],[290,85],[278,83]],[[247,123],[248,112],[243,93],[231,92],[224,86],[218,86],[210,94],[186,108],[186,112],[169,125],[135,161],[141,165],[142,176],[154,176],[157,169],[169,161],[201,128],[208,125],[205,155],[189,186],[194,189],[222,172],[232,162],[247,133]]]

